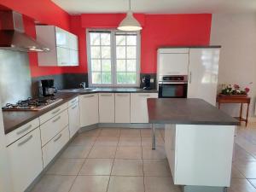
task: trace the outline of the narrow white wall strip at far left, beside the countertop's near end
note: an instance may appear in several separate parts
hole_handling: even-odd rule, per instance
[[[3,113],[2,110],[0,110],[0,192],[9,192],[9,188],[9,164],[5,147],[5,135],[3,130]]]

